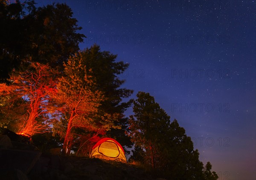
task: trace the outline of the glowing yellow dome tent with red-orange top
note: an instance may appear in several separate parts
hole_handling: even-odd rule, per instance
[[[117,160],[127,163],[125,151],[115,139],[104,138],[93,146],[90,158],[97,157],[105,160]]]

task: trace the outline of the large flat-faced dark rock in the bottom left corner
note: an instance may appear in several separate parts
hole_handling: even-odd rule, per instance
[[[40,156],[40,151],[1,149],[0,162],[2,163],[0,163],[0,169],[8,171],[16,168],[24,174],[28,174]]]

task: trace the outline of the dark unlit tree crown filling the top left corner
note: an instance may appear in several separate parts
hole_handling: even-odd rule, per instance
[[[34,0],[0,1],[0,81],[12,70],[24,70],[30,62],[62,70],[63,62],[79,50],[85,37],[66,4],[35,7]],[[63,23],[65,22],[65,23]],[[18,31],[17,31],[18,29]],[[28,57],[29,61],[28,61]]]

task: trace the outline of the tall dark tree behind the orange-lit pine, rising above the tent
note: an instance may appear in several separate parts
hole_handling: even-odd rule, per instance
[[[117,55],[113,55],[110,52],[101,51],[98,45],[84,49],[76,55],[76,59],[82,59],[81,63],[87,75],[93,78],[94,84],[91,84],[91,88],[99,90],[104,96],[100,100],[100,105],[97,107],[94,119],[99,122],[102,120],[102,116],[104,117],[105,114],[108,114],[108,116],[111,115],[117,119],[117,121],[114,121],[115,126],[113,127],[122,126],[122,128],[111,128],[110,131],[102,130],[98,135],[111,136],[122,143],[122,145],[131,147],[132,143],[129,137],[125,135],[128,119],[123,114],[131,103],[122,102],[122,99],[128,98],[133,90],[121,87],[125,81],[119,78],[119,75],[128,68],[129,64],[125,64],[122,61],[116,62],[116,57]],[[96,135],[94,132],[87,136],[88,133],[90,134],[88,131],[84,133],[80,131],[79,134],[83,134],[80,140],[89,139]],[[90,141],[96,140],[98,140],[96,136],[90,139]],[[90,141],[87,141],[87,145],[90,144]],[[83,143],[84,140],[81,141],[81,144]],[[86,146],[84,145],[84,147]]]

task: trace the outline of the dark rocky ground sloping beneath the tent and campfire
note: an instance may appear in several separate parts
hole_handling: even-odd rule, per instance
[[[164,180],[138,165],[63,157],[58,148],[42,154],[15,134],[7,135],[0,136],[0,180]]]

